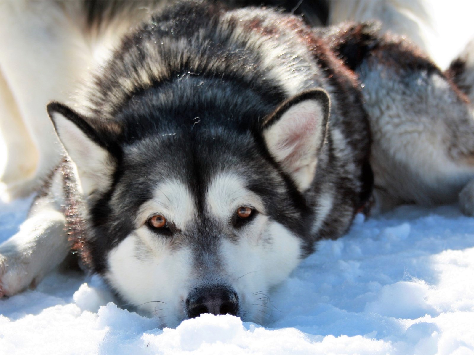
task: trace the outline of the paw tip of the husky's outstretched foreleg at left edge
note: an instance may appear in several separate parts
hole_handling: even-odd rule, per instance
[[[27,287],[34,287],[37,275],[29,270],[26,256],[5,256],[0,254],[0,298],[13,296]]]

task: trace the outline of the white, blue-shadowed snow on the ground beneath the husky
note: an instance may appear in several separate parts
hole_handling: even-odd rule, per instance
[[[0,241],[29,203],[0,204]],[[98,276],[57,270],[0,300],[0,354],[474,354],[473,276],[474,218],[401,206],[320,242],[267,293],[264,326],[205,314],[160,329]]]

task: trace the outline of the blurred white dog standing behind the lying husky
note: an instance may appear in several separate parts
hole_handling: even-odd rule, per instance
[[[87,19],[74,16],[80,1],[64,0],[59,6],[49,0],[0,1],[0,132],[5,150],[0,181],[5,201],[36,191],[59,160],[61,146],[46,103],[67,102],[85,80],[87,68],[108,57],[131,23],[169,1],[130,1],[126,16],[115,17],[107,27],[99,23],[92,32],[84,30]],[[377,19],[384,31],[407,35],[444,66],[446,59],[437,53],[450,47],[433,49],[438,44],[433,5],[425,0],[329,0],[328,24]]]

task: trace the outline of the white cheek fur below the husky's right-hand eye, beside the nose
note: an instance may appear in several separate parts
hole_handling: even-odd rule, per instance
[[[222,264],[237,292],[244,320],[264,323],[271,317],[271,290],[301,260],[301,240],[282,224],[261,218],[236,242],[222,240]]]

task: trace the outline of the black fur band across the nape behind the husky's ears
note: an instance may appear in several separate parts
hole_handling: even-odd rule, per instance
[[[185,136],[186,142],[191,142],[199,139],[202,132],[218,127],[258,131],[260,121],[276,102],[275,97],[256,93],[238,81],[188,75],[135,95],[116,117],[123,126],[122,144],[167,135]]]

